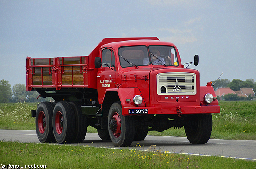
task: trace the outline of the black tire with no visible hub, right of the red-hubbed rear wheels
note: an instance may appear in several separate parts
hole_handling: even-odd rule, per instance
[[[82,143],[85,140],[85,135],[87,132],[87,120],[84,115],[82,115],[81,105],[79,101],[70,102],[74,113],[75,113],[75,136],[72,143]]]

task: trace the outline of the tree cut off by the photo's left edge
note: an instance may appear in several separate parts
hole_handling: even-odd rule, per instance
[[[0,103],[7,103],[12,99],[11,84],[7,80],[0,80]]]

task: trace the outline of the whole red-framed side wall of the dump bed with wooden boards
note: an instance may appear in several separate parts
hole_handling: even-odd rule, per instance
[[[91,71],[89,71],[91,70]],[[27,90],[32,88],[88,88],[88,56],[27,58]]]

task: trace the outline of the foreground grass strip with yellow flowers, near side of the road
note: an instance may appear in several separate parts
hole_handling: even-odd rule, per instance
[[[0,141],[0,163],[47,165],[49,169],[255,169],[256,162],[129,149]],[[18,167],[16,167],[18,168]]]

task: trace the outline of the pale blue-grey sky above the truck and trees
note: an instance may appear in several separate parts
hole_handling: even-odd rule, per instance
[[[26,57],[89,55],[106,37],[158,37],[200,85],[256,81],[256,0],[0,0],[0,80],[26,84]]]

